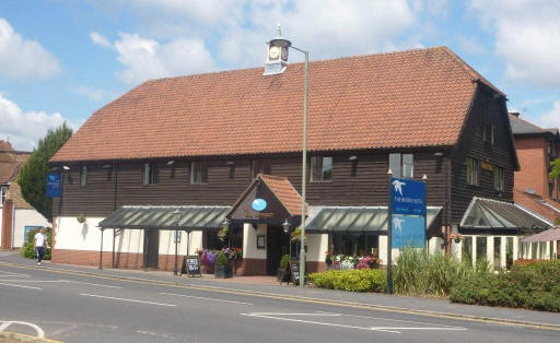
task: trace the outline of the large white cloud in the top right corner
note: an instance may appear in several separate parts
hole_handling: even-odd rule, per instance
[[[560,87],[560,1],[472,0],[470,7],[495,33],[508,78]]]

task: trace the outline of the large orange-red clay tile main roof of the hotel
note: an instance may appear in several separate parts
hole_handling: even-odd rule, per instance
[[[262,71],[148,81],[95,111],[51,162],[299,152],[303,64]],[[446,47],[312,61],[308,150],[454,145],[479,83],[499,92]]]

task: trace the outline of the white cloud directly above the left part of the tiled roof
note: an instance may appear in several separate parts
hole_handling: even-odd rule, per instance
[[[100,35],[103,39],[93,34],[90,37],[94,43],[103,42],[98,45],[106,46],[108,40],[105,37]],[[128,84],[215,69],[212,56],[201,39],[176,38],[161,44],[138,34],[119,33],[119,40],[108,44],[117,52],[119,63],[125,67],[118,75]]]

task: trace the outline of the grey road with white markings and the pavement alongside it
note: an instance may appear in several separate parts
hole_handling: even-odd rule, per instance
[[[67,342],[559,342],[560,315],[0,255],[0,328]],[[8,329],[7,329],[8,330]],[[93,335],[92,335],[93,334]]]

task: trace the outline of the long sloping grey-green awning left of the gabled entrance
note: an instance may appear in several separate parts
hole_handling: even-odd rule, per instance
[[[101,228],[217,229],[230,206],[122,206]]]

